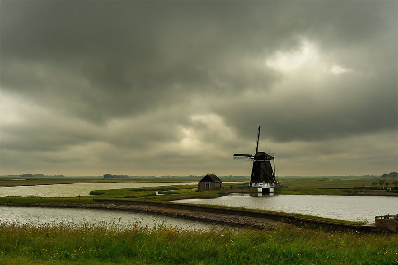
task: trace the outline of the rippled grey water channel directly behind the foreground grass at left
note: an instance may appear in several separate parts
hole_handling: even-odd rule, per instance
[[[119,222],[119,217],[121,217]],[[161,215],[97,209],[73,209],[73,208],[41,208],[41,207],[5,207],[0,206],[1,222],[16,222],[19,224],[109,224],[116,223],[121,226],[139,226],[149,228],[153,226],[181,227],[186,230],[209,230],[212,228],[223,229],[224,225],[193,221],[183,218],[165,217]]]

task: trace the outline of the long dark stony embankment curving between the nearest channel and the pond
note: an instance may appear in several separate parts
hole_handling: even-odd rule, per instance
[[[322,228],[334,231],[376,231],[372,226],[361,226],[352,224],[339,224],[334,222],[312,220],[296,217],[288,214],[265,213],[255,210],[241,210],[230,208],[218,208],[199,205],[149,202],[149,201],[126,201],[110,199],[93,199],[98,204],[15,204],[2,203],[0,206],[19,207],[57,207],[57,208],[87,208],[104,210],[123,210],[155,213],[179,218],[188,218],[218,224],[227,224],[240,227],[253,227],[258,229],[272,229],[276,222],[294,224],[311,228]],[[116,205],[124,204],[124,205]]]

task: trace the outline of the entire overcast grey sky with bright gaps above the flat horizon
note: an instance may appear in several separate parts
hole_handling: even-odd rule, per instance
[[[397,10],[1,0],[0,174],[398,171]]]

